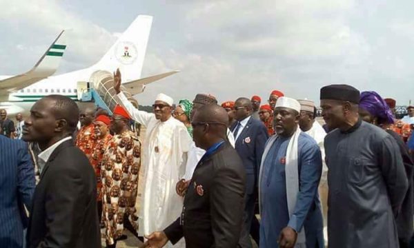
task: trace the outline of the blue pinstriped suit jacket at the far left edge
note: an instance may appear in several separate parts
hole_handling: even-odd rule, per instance
[[[23,245],[23,228],[34,192],[34,168],[23,141],[0,136],[0,247]]]

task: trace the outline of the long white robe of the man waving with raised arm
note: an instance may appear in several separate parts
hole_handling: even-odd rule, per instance
[[[175,185],[186,172],[187,152],[193,141],[184,124],[175,118],[161,122],[155,114],[137,110],[124,93],[117,96],[132,119],[146,126],[137,207],[138,234],[148,235],[165,229],[181,214],[183,201],[176,194]],[[167,247],[172,247],[170,242]],[[184,239],[174,247],[185,247]]]

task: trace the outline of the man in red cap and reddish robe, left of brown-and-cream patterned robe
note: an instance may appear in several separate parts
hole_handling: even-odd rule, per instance
[[[98,201],[98,217],[99,222],[101,222],[102,216],[102,178],[101,178],[101,168],[102,168],[102,157],[103,153],[108,149],[109,142],[112,138],[112,135],[109,133],[110,118],[108,116],[100,115],[97,116],[95,122],[95,136],[97,137],[97,145],[90,156],[90,164],[95,170],[95,175],[97,176],[97,201]]]

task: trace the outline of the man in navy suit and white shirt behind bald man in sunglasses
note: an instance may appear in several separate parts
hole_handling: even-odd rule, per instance
[[[257,245],[259,245],[259,225],[255,219],[255,203],[257,200],[257,178],[259,176],[260,163],[264,145],[268,139],[266,126],[252,117],[253,105],[250,99],[241,97],[235,101],[235,119],[231,130],[235,136],[235,149],[244,163],[246,172],[246,207],[244,216],[244,229],[240,237],[240,246],[252,247],[249,234],[251,233]],[[252,221],[254,228],[250,230]]]

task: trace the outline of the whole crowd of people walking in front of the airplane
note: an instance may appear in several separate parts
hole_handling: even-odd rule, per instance
[[[327,85],[322,125],[279,90],[158,94],[148,113],[119,70],[114,89],[111,114],[60,95],[16,126],[0,111],[0,247],[117,247],[124,229],[144,247],[413,247],[414,106],[397,120],[395,100]]]

